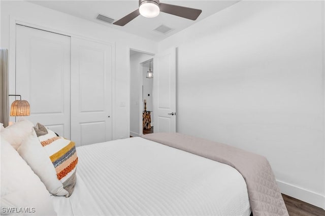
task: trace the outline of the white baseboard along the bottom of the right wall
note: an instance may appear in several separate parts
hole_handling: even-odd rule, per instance
[[[288,195],[290,197],[294,197],[296,199],[302,200],[304,202],[325,209],[325,196],[312,191],[308,191],[303,188],[299,188],[294,185],[290,185],[288,183],[281,182],[279,180],[277,180],[276,182],[282,194]]]

